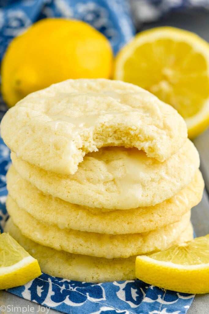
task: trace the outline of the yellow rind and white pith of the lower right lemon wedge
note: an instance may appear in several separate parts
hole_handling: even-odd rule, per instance
[[[138,256],[136,277],[148,284],[181,293],[209,292],[209,263],[180,265],[154,260],[149,256]]]

